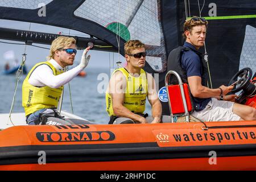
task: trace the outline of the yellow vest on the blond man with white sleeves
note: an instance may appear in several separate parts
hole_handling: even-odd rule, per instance
[[[49,86],[33,86],[28,82],[32,72],[39,67],[39,65],[43,64],[48,65],[52,69],[53,75],[60,75],[63,73],[63,71],[57,71],[49,61],[38,63],[31,69],[22,85],[22,106],[24,107],[25,115],[34,113],[40,109],[58,106],[63,86],[54,89]]]

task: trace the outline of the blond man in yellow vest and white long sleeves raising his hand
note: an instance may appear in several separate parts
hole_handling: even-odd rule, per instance
[[[28,125],[72,124],[62,119],[56,108],[59,103],[63,85],[77,76],[87,65],[90,55],[82,53],[80,64],[64,72],[64,68],[73,65],[76,56],[76,40],[59,36],[53,40],[48,61],[36,64],[28,73],[22,85],[22,106]],[[47,122],[47,118],[51,121]]]

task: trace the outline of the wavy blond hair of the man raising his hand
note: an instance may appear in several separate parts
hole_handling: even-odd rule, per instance
[[[76,39],[69,38],[68,36],[59,36],[57,39],[53,40],[47,60],[53,58],[55,51],[63,49],[64,47],[69,47],[72,44],[76,44]]]

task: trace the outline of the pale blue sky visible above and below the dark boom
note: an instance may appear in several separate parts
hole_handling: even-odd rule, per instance
[[[2,20],[0,19],[0,27],[4,28],[16,28],[16,29],[21,29],[21,30],[29,30],[30,23],[27,22],[17,22],[13,20]],[[43,28],[42,28],[43,27]],[[31,31],[40,31],[40,32],[49,32],[53,34],[58,34],[59,32],[63,32],[63,35],[68,35],[69,34],[69,29],[66,28],[60,28],[60,27],[53,27],[53,26],[46,26],[42,24],[36,24],[36,23],[31,23],[30,27]],[[82,32],[70,30],[70,34],[76,34],[77,36],[83,36]],[[3,40],[0,39],[1,42],[10,42],[8,40]],[[23,42],[13,42],[11,43],[23,43]],[[42,47],[47,47],[49,48],[50,46],[43,45],[43,44],[33,44],[36,46],[42,46]],[[5,43],[0,43],[0,65],[3,65],[6,63],[6,60],[3,57],[3,53],[6,51],[13,50],[15,52],[15,57],[19,60],[19,62],[22,60],[22,54],[24,53],[24,45],[14,45],[14,44],[5,44]],[[26,48],[26,53],[27,53],[27,65],[34,65],[36,63],[39,63],[40,61],[45,61],[46,56],[49,54],[49,50],[47,49],[42,49],[42,48],[36,48],[32,46],[27,46]],[[75,64],[80,63],[80,58],[81,58],[82,51],[78,51],[75,59]],[[112,67],[113,61],[114,61],[114,67],[116,66],[115,62],[117,60],[121,60],[122,63],[125,63],[125,59],[122,55],[118,56],[118,53],[109,53],[105,51],[93,51],[90,50],[89,54],[91,55],[90,62],[88,65],[88,68],[92,67],[104,67],[104,68],[109,68],[110,65]],[[114,58],[113,58],[114,57]]]

